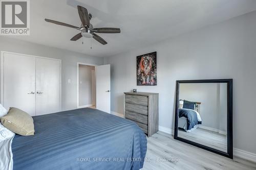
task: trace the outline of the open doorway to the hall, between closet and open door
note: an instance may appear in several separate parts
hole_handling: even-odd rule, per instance
[[[77,63],[77,108],[96,108],[95,65]]]

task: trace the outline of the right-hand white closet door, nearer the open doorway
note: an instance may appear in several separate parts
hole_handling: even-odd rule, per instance
[[[36,115],[60,111],[60,61],[36,58]]]

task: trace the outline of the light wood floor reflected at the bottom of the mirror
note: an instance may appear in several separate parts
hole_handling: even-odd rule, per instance
[[[223,152],[227,152],[227,136],[217,132],[201,128],[197,128],[191,132],[178,130],[178,137],[194,141]]]

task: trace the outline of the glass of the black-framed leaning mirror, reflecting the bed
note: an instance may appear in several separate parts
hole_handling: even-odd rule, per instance
[[[227,152],[227,84],[181,83],[178,136]]]

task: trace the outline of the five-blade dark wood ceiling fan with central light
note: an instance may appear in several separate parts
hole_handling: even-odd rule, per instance
[[[121,32],[119,28],[93,28],[93,25],[90,23],[90,20],[92,19],[92,14],[88,13],[87,9],[84,7],[77,6],[77,9],[78,9],[79,17],[81,19],[81,27],[72,26],[72,25],[69,25],[68,23],[63,23],[63,22],[59,22],[51,19],[45,19],[45,21],[55,23],[60,26],[74,28],[76,30],[81,31],[81,33],[71,38],[70,39],[71,41],[76,41],[81,37],[86,37],[86,38],[94,38],[96,41],[105,45],[108,42],[106,42],[103,38],[101,38],[95,33],[120,33]]]

